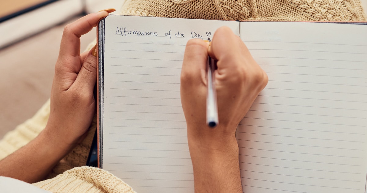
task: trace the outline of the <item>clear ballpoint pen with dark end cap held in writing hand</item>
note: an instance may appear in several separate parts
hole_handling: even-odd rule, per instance
[[[208,38],[210,42],[210,38]],[[217,90],[215,89],[214,79],[215,61],[208,55],[207,61],[207,80],[208,80],[208,94],[207,94],[207,124],[209,127],[218,125],[218,105],[217,105]]]

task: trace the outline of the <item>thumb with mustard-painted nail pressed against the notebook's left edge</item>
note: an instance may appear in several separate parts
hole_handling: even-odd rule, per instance
[[[92,49],[81,65],[75,85],[78,85],[82,92],[92,93],[97,81],[97,58],[92,55]]]

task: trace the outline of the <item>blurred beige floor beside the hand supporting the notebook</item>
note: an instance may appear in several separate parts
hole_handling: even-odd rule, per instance
[[[366,12],[367,0],[361,1]],[[79,17],[0,50],[0,138],[50,97],[63,27]],[[94,39],[95,29],[82,36],[81,48]]]

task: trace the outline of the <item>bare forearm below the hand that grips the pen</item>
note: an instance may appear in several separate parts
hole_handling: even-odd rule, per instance
[[[215,144],[204,140],[189,141],[196,193],[242,192],[238,145],[234,136],[230,140],[218,139]]]

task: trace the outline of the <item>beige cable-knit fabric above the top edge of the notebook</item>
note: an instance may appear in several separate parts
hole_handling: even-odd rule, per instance
[[[123,15],[257,21],[366,21],[359,0],[126,0]]]

